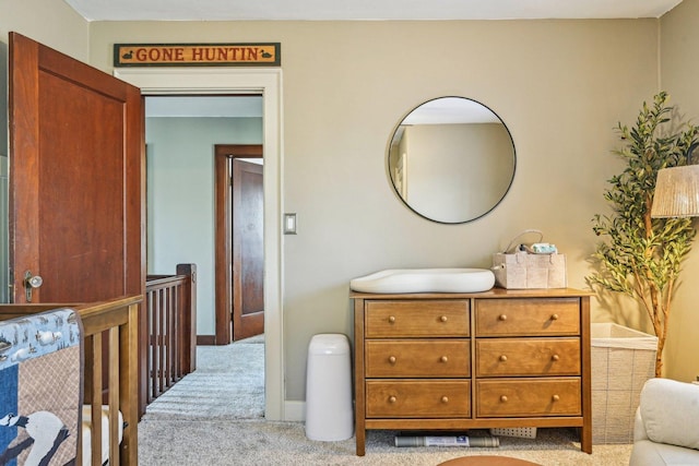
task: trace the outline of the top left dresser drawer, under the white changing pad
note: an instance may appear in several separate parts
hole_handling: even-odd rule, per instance
[[[366,301],[367,338],[469,336],[467,300]]]

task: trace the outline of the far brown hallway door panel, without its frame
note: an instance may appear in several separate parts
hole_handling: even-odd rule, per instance
[[[262,165],[233,159],[233,339],[264,332]]]

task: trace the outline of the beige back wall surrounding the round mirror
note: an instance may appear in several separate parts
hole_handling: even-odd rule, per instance
[[[110,71],[114,43],[256,40],[282,44],[283,210],[298,214],[283,258],[286,399],[305,397],[311,335],[351,332],[353,277],[489,266],[538,228],[568,254],[570,285],[585,286],[591,218],[621,167],[612,129],[659,86],[657,21],[95,23],[91,62]],[[413,214],[387,175],[394,126],[443,95],[490,107],[517,147],[509,194],[466,225]],[[595,306],[594,320],[615,319]]]

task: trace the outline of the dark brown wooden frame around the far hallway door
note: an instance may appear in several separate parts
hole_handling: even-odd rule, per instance
[[[235,154],[235,152],[238,152]],[[232,326],[235,295],[232,292],[235,267],[232,265],[233,236],[230,228],[233,199],[230,195],[232,160],[234,158],[263,157],[262,144],[214,144],[214,307],[216,345],[227,345],[234,340],[236,328]],[[263,179],[264,180],[264,179]]]

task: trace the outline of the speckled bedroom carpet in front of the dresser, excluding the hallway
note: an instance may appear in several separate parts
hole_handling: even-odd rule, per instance
[[[301,422],[264,420],[143,419],[139,425],[139,464],[161,465],[381,465],[434,466],[467,455],[502,455],[546,466],[628,465],[630,445],[595,445],[580,452],[564,429],[540,429],[536,441],[500,438],[497,449],[395,447],[392,431],[367,432],[366,456],[355,455],[354,438],[308,440]]]

